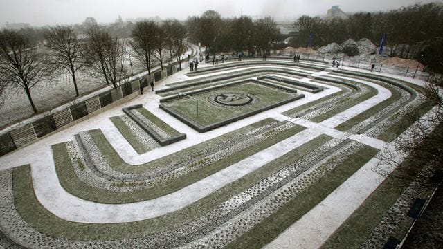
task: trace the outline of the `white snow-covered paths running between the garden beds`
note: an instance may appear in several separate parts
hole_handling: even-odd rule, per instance
[[[209,64],[205,65],[202,63],[200,66],[209,66]],[[354,68],[347,69],[354,70]],[[185,75],[186,71],[187,70],[183,70],[166,78],[165,80],[162,80],[161,82],[158,82],[156,84],[156,89],[162,89],[165,87],[165,84],[168,83],[188,79],[188,77]],[[217,73],[213,75],[216,74]],[[328,73],[325,71],[314,73],[314,75],[327,74]],[[419,85],[424,83],[420,80],[411,80],[410,78],[406,77],[401,78],[402,80],[408,80]],[[307,78],[303,79],[303,81],[310,82],[310,80]],[[63,131],[58,131],[51,136],[38,140],[32,145],[28,145],[27,147],[21,148],[6,156],[2,156],[0,158],[0,169],[30,164],[37,199],[46,209],[62,219],[84,223],[117,223],[147,219],[165,214],[167,212],[172,212],[173,210],[177,210],[185,205],[195,202],[198,199],[201,199],[204,196],[218,190],[220,187],[235,181],[244,174],[261,167],[279,156],[282,156],[287,151],[302,145],[302,143],[307,142],[312,138],[315,138],[321,133],[325,133],[334,138],[350,138],[352,140],[362,142],[363,144],[376,147],[377,149],[389,148],[390,145],[381,140],[364,135],[357,136],[351,133],[344,133],[334,129],[334,127],[341,122],[356,116],[358,113],[370,109],[370,107],[373,107],[375,104],[378,104],[379,102],[382,102],[383,100],[386,100],[386,98],[390,97],[390,91],[388,91],[388,89],[376,84],[367,84],[375,87],[379,92],[378,95],[366,100],[365,102],[361,102],[361,104],[358,104],[347,111],[338,113],[336,116],[333,116],[332,118],[329,118],[321,123],[310,122],[309,120],[302,118],[291,119],[287,116],[282,116],[280,113],[340,90],[334,86],[327,86],[325,91],[316,94],[303,92],[305,94],[305,98],[301,100],[285,104],[269,111],[264,111],[260,114],[252,116],[251,118],[239,120],[206,133],[198,133],[185,124],[179,122],[179,120],[168,115],[168,113],[165,113],[159,109],[159,96],[153,94],[152,92],[147,92],[143,95],[139,95],[137,98],[134,98],[134,100],[131,100],[120,107],[115,107],[100,113],[89,120],[75,124],[73,127],[69,127]],[[137,154],[109,120],[109,117],[111,116],[122,115],[123,111],[121,111],[121,109],[133,104],[143,104],[145,109],[154,113],[154,115],[159,117],[164,122],[170,124],[172,128],[181,133],[186,133],[187,139],[173,145],[169,145],[168,147],[152,149],[152,151],[148,151],[146,154]],[[234,165],[231,165],[220,172],[208,176],[207,178],[203,178],[200,181],[189,185],[188,187],[184,187],[177,192],[173,192],[150,201],[119,205],[85,201],[66,192],[60,185],[55,172],[51,145],[73,140],[73,136],[81,131],[101,129],[107,140],[109,140],[111,145],[116,149],[117,153],[123,158],[123,160],[129,164],[136,165],[155,160],[161,156],[172,154],[175,151],[199,144],[200,142],[204,142],[224,133],[228,133],[229,131],[239,129],[264,118],[289,120],[295,124],[300,124],[307,127],[307,129],[291,138],[288,138],[287,140],[283,140],[282,142],[269,147],[268,149],[260,151],[251,157],[239,161],[238,163],[235,163]],[[275,241],[269,244],[268,247],[284,248],[284,245],[286,245],[291,246],[291,248],[317,248],[320,246],[320,244],[323,243],[323,241],[327,239],[327,237],[329,237],[329,235],[332,234],[332,232],[334,232],[334,230],[336,230],[336,228],[338,228],[338,226],[341,225],[341,223],[343,223],[343,221],[345,221],[345,219],[347,219],[347,217],[350,216],[350,214],[352,214],[356,208],[358,208],[358,206],[375,189],[375,187],[379,185],[381,176],[370,171],[374,163],[377,163],[377,159],[370,160],[370,162],[364,165],[359,172],[354,174],[351,178],[345,181],[343,185],[332,192],[327,199],[323,200],[316,206],[316,208],[305,214],[302,219],[294,223],[290,228],[287,229],[287,231],[280,234],[280,237],[275,239]],[[233,172],[236,173],[233,174]],[[308,244],[309,246],[307,246]]]

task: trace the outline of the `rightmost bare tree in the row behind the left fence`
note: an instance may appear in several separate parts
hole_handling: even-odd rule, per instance
[[[181,70],[181,60],[186,53],[186,46],[183,44],[186,38],[186,27],[180,24],[177,20],[168,20],[163,23],[163,30],[165,30],[167,41],[170,46],[171,53],[177,59]]]

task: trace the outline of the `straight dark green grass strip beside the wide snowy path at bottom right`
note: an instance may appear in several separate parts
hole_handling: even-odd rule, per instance
[[[317,183],[298,194],[277,212],[264,219],[226,248],[262,248],[278,234],[298,221],[304,214],[314,208],[338,186],[352,176],[358,169],[377,154],[378,150],[365,145],[352,154],[338,167],[327,172]]]

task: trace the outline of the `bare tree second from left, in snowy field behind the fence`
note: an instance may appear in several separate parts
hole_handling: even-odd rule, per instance
[[[78,92],[77,78],[75,73],[82,68],[82,43],[77,39],[73,28],[69,26],[51,27],[44,33],[46,39],[45,46],[53,50],[52,60],[57,68],[61,68],[71,75],[75,88],[75,96]]]

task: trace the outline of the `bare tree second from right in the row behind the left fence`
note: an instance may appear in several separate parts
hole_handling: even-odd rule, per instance
[[[154,21],[138,21],[132,30],[132,42],[129,43],[136,59],[145,66],[149,74],[154,60],[155,26]]]

